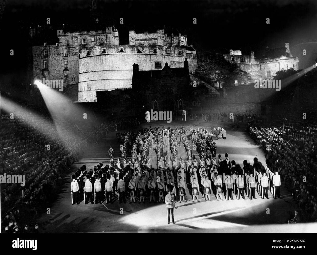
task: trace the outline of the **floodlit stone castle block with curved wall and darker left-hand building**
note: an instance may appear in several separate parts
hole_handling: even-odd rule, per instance
[[[129,31],[129,44],[119,44],[118,30],[65,33],[57,30],[59,43],[32,47],[34,79],[64,79],[66,93],[78,102],[96,102],[97,91],[132,87],[133,64],[140,71],[171,68],[197,68],[196,50],[187,45],[186,35],[168,36],[163,29],[156,33]],[[78,99],[75,97],[78,93]]]

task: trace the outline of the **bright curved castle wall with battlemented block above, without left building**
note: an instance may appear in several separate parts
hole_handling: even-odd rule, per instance
[[[96,101],[96,92],[132,87],[133,64],[140,71],[162,70],[165,63],[171,68],[184,67],[187,58],[189,71],[197,68],[196,50],[187,46],[186,36],[167,37],[164,30],[136,34],[129,31],[128,45],[99,45],[82,49],[79,54],[78,102]]]

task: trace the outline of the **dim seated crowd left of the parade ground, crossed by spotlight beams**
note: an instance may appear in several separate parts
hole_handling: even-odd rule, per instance
[[[25,113],[14,119],[3,114],[1,117],[1,175],[25,176],[24,186],[19,183],[1,185],[2,233],[37,232],[36,219],[54,201],[53,191],[88,143],[100,141],[108,132],[139,124],[136,118],[101,124],[69,123],[57,133],[48,114]],[[74,136],[67,137],[69,134]],[[51,145],[50,150],[47,144]]]

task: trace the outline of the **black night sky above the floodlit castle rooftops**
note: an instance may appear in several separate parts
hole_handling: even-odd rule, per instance
[[[92,0],[0,0],[3,80],[20,79],[25,73],[25,47],[28,28],[46,25],[51,19],[53,41],[56,29],[64,23],[68,29],[94,30],[91,26]],[[174,34],[187,33],[188,44],[197,51],[229,53],[230,49],[247,53],[255,51],[260,58],[265,46],[282,47],[290,43],[293,56],[300,57],[300,68],[313,64],[317,57],[316,0],[249,0],[249,1],[106,1],[94,0],[94,14],[100,25],[114,25],[120,43],[128,44],[128,30],[155,31],[165,26]],[[120,24],[120,18],[124,24]],[[193,18],[197,24],[193,24]],[[266,24],[270,18],[270,24]],[[41,43],[42,44],[42,43]],[[10,56],[14,49],[14,56]],[[302,50],[307,56],[302,56]],[[3,76],[4,75],[4,76]]]

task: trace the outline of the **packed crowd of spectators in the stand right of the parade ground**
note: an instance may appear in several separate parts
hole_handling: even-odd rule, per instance
[[[288,132],[283,134],[281,125],[276,119],[279,118],[272,118],[271,121],[252,120],[248,124],[247,131],[266,153],[268,166],[279,168],[281,180],[298,203],[301,221],[316,222],[316,150],[305,137],[297,138]],[[298,133],[305,133],[310,126],[307,123],[307,126],[299,127],[297,121],[292,120],[285,122],[284,129],[291,127]]]

